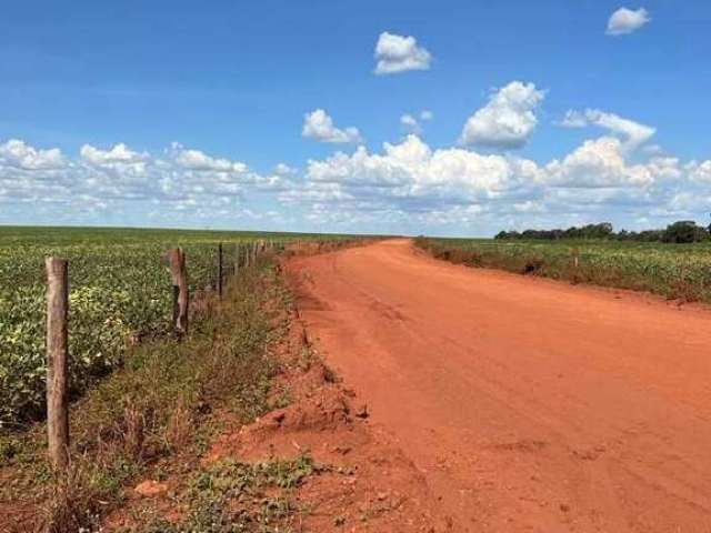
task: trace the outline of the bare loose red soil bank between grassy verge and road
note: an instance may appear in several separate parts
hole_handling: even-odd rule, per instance
[[[292,359],[291,371],[282,376],[291,386],[292,403],[222,435],[206,461],[312,456],[324,467],[296,494],[299,505],[310,510],[299,531],[450,531],[451,521],[440,515],[422,474],[385,434],[370,426],[365,404],[304,344],[307,335],[296,315],[290,336],[288,353],[308,351],[311,361],[301,370]]]

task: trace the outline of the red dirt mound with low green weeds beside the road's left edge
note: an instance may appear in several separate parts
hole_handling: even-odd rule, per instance
[[[282,371],[271,402],[286,405],[248,425],[221,416],[224,430],[198,465],[137,485],[106,531],[143,531],[146,516],[161,531],[186,524],[202,531],[194,522],[200,514],[212,512],[210,523],[219,523],[224,510],[237,513],[228,525],[246,520],[244,531],[450,531],[421,472],[371,426],[365,403],[323,364],[297,309],[276,320],[288,325],[274,348]],[[208,503],[201,486],[209,487]],[[228,489],[216,496],[220,487]],[[268,527],[250,529],[258,524]]]

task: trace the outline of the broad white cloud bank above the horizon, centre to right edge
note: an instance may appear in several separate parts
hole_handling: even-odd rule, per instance
[[[306,208],[309,220],[344,225],[461,229],[472,223],[498,231],[514,224],[609,220],[610,212],[633,220],[662,212],[689,217],[671,200],[680,191],[708,188],[711,162],[683,165],[673,157],[631,161],[624,144],[603,135],[559,159],[537,162],[464,148],[433,149],[410,134],[384,143],[380,152],[359,147],[350,154],[310,160],[306,180],[280,199]]]

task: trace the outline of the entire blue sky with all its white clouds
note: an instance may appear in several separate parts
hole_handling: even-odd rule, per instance
[[[704,1],[16,2],[0,223],[708,223],[709,28]]]

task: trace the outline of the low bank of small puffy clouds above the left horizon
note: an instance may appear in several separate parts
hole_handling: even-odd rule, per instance
[[[109,149],[84,144],[74,158],[18,140],[0,143],[0,220],[6,221],[29,202],[43,205],[38,212],[49,220],[70,213],[74,221],[97,212],[113,217],[151,204],[161,207],[166,220],[174,220],[170,217],[177,212],[229,219],[243,214],[239,203],[246,194],[289,187],[290,180],[278,173],[262,175],[242,162],[177,143],[160,154],[123,143]]]

